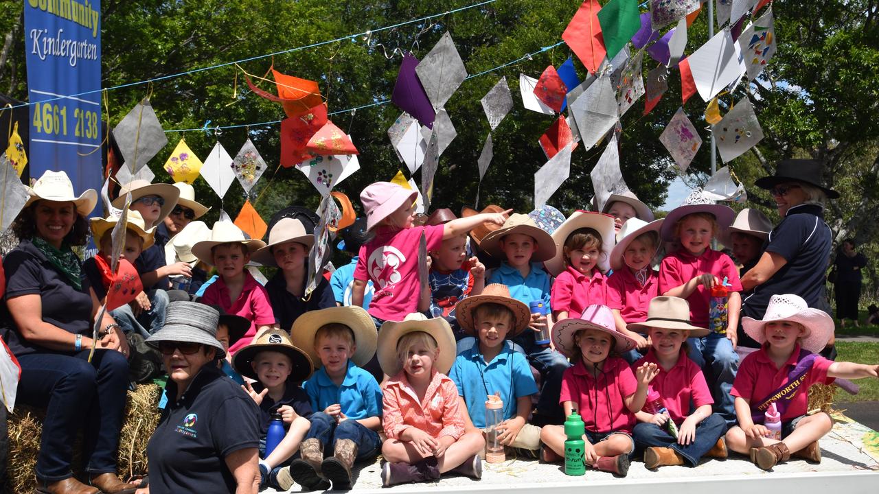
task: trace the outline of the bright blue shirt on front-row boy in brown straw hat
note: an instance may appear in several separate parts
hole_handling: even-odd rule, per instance
[[[470,420],[478,428],[485,427],[487,396],[500,393],[504,419],[507,419],[516,416],[517,398],[537,392],[525,355],[514,352],[509,342],[505,342],[504,349],[487,364],[479,344],[473,345],[455,358],[448,376],[458,387],[458,396],[463,396]]]

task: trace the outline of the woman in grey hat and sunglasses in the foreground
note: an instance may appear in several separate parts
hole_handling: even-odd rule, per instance
[[[235,492],[259,488],[259,409],[216,365],[220,315],[175,301],[161,330],[147,339],[162,352],[168,404],[147,446],[149,479],[138,494]]]

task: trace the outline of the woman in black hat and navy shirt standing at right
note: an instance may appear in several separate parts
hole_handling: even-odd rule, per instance
[[[755,184],[772,194],[781,222],[770,233],[757,265],[745,272],[742,316],[762,319],[773,294],[796,294],[813,309],[830,314],[825,272],[830,264],[832,233],[824,221],[827,200],[839,193],[825,187],[823,165],[816,160],[792,159],[778,163],[774,175]],[[759,347],[739,326],[739,345]],[[833,338],[822,352],[833,352]]]

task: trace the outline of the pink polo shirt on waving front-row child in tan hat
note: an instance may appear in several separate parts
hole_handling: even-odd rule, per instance
[[[694,410],[702,405],[714,403],[702,369],[686,356],[686,352],[681,352],[678,363],[665,371],[659,365],[653,349],[650,348],[643,359],[632,364],[632,369],[646,362],[653,362],[659,367],[659,374],[653,378],[650,386],[662,397],[662,404],[676,425],[680,425],[690,415],[691,400]]]

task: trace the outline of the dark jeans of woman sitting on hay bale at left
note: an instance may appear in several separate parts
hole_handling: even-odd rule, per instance
[[[18,357],[18,400],[46,409],[36,474],[54,482],[73,476],[73,440],[83,431],[86,472],[116,473],[119,434],[128,388],[128,361],[120,352],[89,350],[73,355],[28,353]]]

